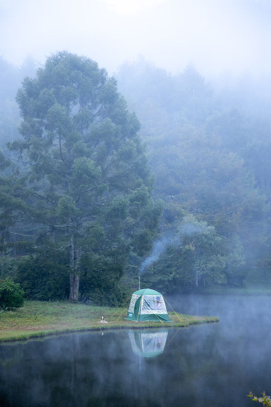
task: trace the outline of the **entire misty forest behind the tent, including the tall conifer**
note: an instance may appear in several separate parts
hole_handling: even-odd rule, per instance
[[[268,273],[270,99],[139,57],[0,58],[1,278],[25,297],[120,304]]]

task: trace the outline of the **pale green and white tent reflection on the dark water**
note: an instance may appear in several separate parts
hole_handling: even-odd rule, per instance
[[[168,328],[162,328],[159,331],[150,330],[131,330],[129,338],[132,351],[146,358],[151,358],[163,353],[167,341]]]

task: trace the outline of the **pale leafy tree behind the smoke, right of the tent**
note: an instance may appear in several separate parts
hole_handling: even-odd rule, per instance
[[[234,271],[241,279],[242,246],[237,242],[232,251],[227,249],[227,241],[213,226],[187,215],[164,254],[143,274],[142,281],[157,290],[171,292],[181,287],[191,289],[221,283],[225,276],[231,275],[233,279]]]

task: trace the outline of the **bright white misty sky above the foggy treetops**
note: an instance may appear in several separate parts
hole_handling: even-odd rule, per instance
[[[271,0],[0,0],[0,55],[67,50],[112,74],[144,56],[173,74],[271,72]]]

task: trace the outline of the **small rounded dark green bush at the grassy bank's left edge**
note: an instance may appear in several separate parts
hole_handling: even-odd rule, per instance
[[[10,279],[0,280],[0,308],[19,308],[24,305],[24,290]]]

